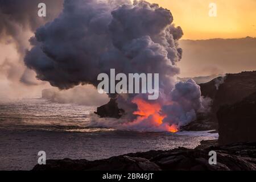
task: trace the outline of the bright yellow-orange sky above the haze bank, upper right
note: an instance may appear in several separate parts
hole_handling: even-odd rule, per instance
[[[147,0],[170,9],[183,39],[256,37],[256,0]],[[209,4],[217,17],[209,16]]]

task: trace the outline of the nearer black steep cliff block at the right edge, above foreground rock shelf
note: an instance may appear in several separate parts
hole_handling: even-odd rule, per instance
[[[256,92],[236,104],[221,106],[217,117],[220,144],[256,142]]]

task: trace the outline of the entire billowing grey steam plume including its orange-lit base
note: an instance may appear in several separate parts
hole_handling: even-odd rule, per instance
[[[193,121],[202,107],[194,81],[176,83],[183,31],[172,22],[169,10],[146,1],[65,1],[60,16],[38,28],[24,62],[40,80],[60,89],[97,86],[98,74],[112,68],[116,74],[159,73],[158,100],[148,101],[142,94],[118,97],[127,114],[115,127],[169,131],[174,124]],[[131,119],[140,115],[137,110],[143,116]]]

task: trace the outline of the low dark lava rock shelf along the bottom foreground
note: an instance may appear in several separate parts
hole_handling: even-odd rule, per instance
[[[214,143],[214,142],[213,142]],[[208,144],[213,144],[212,142]],[[208,163],[209,151],[217,152],[217,165]],[[159,170],[256,170],[256,143],[229,146],[177,148],[170,151],[148,151],[115,156],[104,160],[47,160],[33,170],[48,171],[159,171]]]

